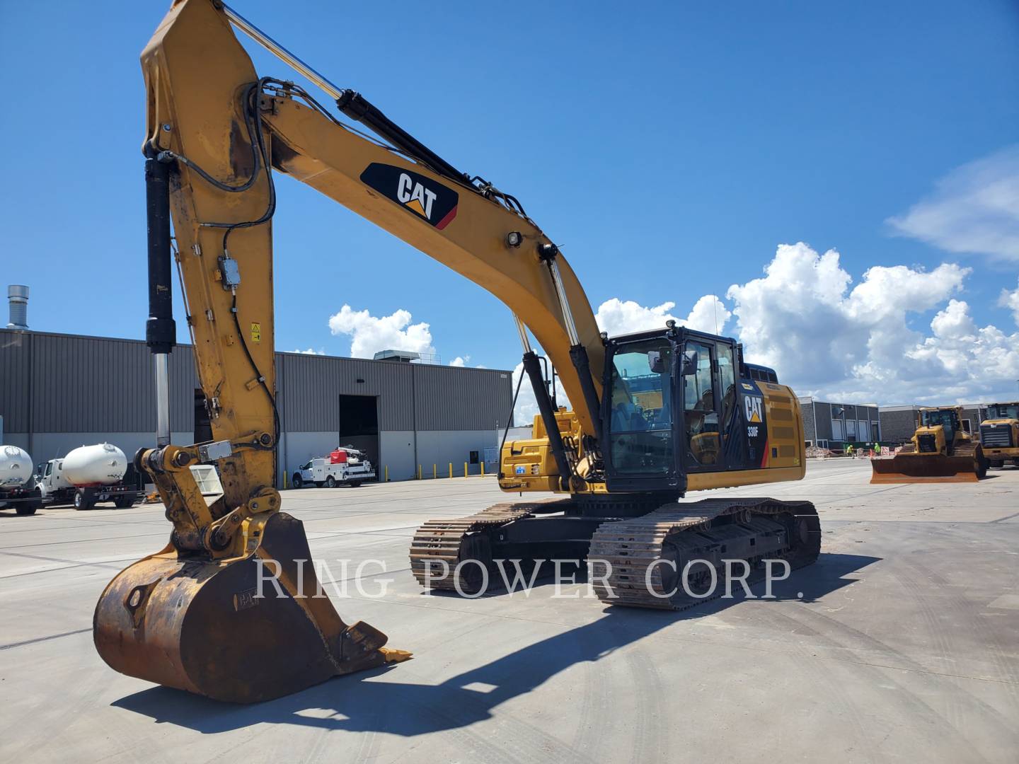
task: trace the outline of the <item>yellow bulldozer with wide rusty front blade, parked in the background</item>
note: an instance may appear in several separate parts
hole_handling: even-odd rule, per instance
[[[980,443],[962,428],[962,407],[921,408],[916,432],[895,456],[870,460],[871,483],[975,483],[987,476]]]

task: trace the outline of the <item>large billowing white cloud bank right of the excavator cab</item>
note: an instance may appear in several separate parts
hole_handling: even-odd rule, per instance
[[[850,288],[839,253],[783,244],[764,276],[734,284],[747,360],[774,367],[800,394],[912,403],[1001,396],[1019,378],[1019,332],[978,327],[955,298],[970,269],[875,266]],[[929,333],[910,328],[936,311]]]

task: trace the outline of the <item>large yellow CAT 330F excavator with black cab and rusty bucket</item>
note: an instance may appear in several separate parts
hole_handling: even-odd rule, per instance
[[[301,86],[259,76],[234,26],[359,126]],[[681,608],[710,596],[709,579],[734,560],[753,568],[752,580],[764,559],[800,566],[817,557],[820,530],[809,502],[678,502],[687,491],[804,475],[795,394],[772,370],[745,363],[733,339],[673,322],[601,334],[570,265],[515,197],[455,169],[221,2],[174,2],[142,63],[146,335],[158,416],[156,447],[136,462],[155,482],[173,529],[165,548],[121,571],[97,604],[95,644],[110,666],[251,702],[408,656],[387,649],[378,630],[340,619],[328,598],[301,596],[318,585],[307,537],[280,511],[273,487],[276,174],[317,188],[514,313],[540,415],[534,438],[504,444],[499,485],[568,497],[427,524],[411,552],[423,582],[467,592],[497,558],[534,565],[589,555],[612,568],[596,584],[606,602]],[[170,444],[174,261],[213,433],[191,446]],[[552,399],[532,335],[573,411]],[[190,470],[200,462],[217,465],[222,476],[223,495],[211,504]],[[677,570],[696,560],[702,569],[678,586]],[[262,591],[267,575],[276,583]]]

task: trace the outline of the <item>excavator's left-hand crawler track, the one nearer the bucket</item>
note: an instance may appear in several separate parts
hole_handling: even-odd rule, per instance
[[[570,499],[512,502],[494,504],[475,514],[453,520],[432,520],[421,526],[411,542],[411,571],[421,586],[473,594],[477,591],[480,568],[464,565],[465,560],[492,564],[488,536],[480,533],[508,525],[514,521],[555,511]]]

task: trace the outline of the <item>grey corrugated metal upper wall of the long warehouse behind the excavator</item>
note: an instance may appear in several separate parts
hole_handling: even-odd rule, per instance
[[[378,396],[384,431],[504,426],[513,397],[504,371],[288,352],[276,353],[276,364],[280,418],[289,432],[338,431],[339,395]],[[197,386],[192,348],[178,345],[170,353],[174,432],[195,428]],[[151,432],[154,389],[145,342],[0,329],[6,432]]]

